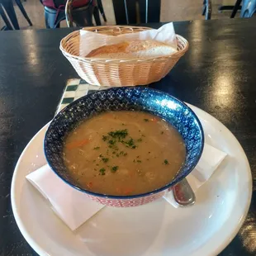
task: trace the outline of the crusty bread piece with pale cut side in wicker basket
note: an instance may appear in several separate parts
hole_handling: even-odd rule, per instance
[[[172,46],[156,40],[130,40],[92,50],[87,57],[99,59],[154,58],[177,52]]]

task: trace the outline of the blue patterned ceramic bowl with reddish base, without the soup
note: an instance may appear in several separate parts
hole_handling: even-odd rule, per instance
[[[63,160],[63,145],[66,135],[78,126],[80,121],[102,112],[121,110],[147,111],[160,116],[183,136],[187,149],[185,163],[176,178],[164,187],[145,194],[116,197],[89,192],[79,187],[79,184],[70,177]],[[163,197],[168,189],[185,178],[195,168],[201,157],[203,145],[204,135],[200,121],[196,114],[177,98],[146,87],[110,88],[79,98],[55,116],[45,134],[45,157],[50,168],[65,183],[85,192],[92,200],[108,206],[126,207],[139,206]]]

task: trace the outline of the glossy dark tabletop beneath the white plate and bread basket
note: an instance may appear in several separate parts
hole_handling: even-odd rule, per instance
[[[215,116],[243,146],[254,178],[253,199],[242,229],[220,255],[256,255],[256,20],[186,21],[175,28],[190,49],[152,87]],[[54,116],[66,80],[78,77],[59,51],[70,31],[0,32],[1,256],[35,255],[12,215],[12,173],[31,137]]]

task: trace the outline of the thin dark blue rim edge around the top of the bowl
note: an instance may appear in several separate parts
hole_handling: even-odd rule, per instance
[[[133,86],[129,86],[129,87],[118,87],[118,88],[107,88],[107,89],[104,89],[104,91],[110,91],[110,90],[117,90],[117,89],[135,89],[135,88],[140,88],[140,89],[147,89],[149,91],[153,91],[153,92],[159,92],[160,94],[163,94],[163,95],[167,95],[168,97],[173,97],[171,94],[169,94],[168,92],[163,92],[163,91],[160,91],[158,89],[154,89],[154,88],[149,88],[149,87],[146,87],[145,86],[140,86],[140,87],[133,87]],[[83,98],[86,98],[86,97],[89,97],[90,95],[94,94],[94,93],[99,93],[99,92],[102,92],[102,90],[100,91],[96,91],[96,92],[92,92],[92,93],[89,93],[87,95],[84,95],[83,97],[79,97],[77,100],[71,102],[68,106],[64,107],[64,109],[62,111],[59,111],[59,113],[63,112],[63,111],[66,111],[67,109],[69,109],[69,107],[73,107],[74,105],[76,105],[80,100],[82,100]],[[77,186],[77,185],[74,185],[72,183],[70,183],[66,178],[62,177],[62,175],[60,175],[56,170],[55,168],[52,167],[52,165],[50,164],[50,161],[47,157],[47,154],[46,154],[46,140],[45,138],[47,137],[49,131],[50,131],[50,126],[52,124],[52,122],[55,120],[55,118],[58,118],[59,116],[59,113],[52,119],[52,121],[50,121],[50,126],[48,126],[46,132],[45,132],[45,138],[44,138],[44,153],[45,153],[45,159],[47,161],[47,164],[50,166],[51,170],[54,171],[54,173],[59,177],[61,178],[64,183],[68,184],[69,186],[77,189],[79,192],[83,192],[85,194],[88,194],[90,196],[93,196],[93,197],[103,197],[103,198],[106,198],[106,199],[117,199],[117,200],[120,200],[120,199],[135,199],[135,198],[140,198],[140,197],[149,197],[151,195],[154,195],[154,194],[157,194],[159,192],[164,192],[165,190],[168,190],[170,187],[173,187],[175,184],[179,183],[181,180],[183,180],[183,178],[186,178],[187,175],[189,173],[192,172],[192,170],[197,166],[197,163],[198,161],[201,159],[201,154],[202,154],[202,151],[204,149],[204,143],[205,143],[205,138],[204,138],[204,132],[203,132],[203,128],[201,126],[201,121],[199,120],[199,118],[197,117],[196,113],[194,111],[192,111],[192,109],[190,107],[187,106],[187,104],[181,100],[179,100],[177,97],[173,97],[174,100],[180,102],[183,107],[187,107],[187,109],[189,111],[192,112],[192,115],[193,117],[197,120],[197,123],[198,123],[198,127],[199,127],[199,130],[200,130],[200,133],[201,133],[201,149],[200,149],[200,152],[198,154],[198,157],[196,159],[196,161],[194,161],[194,163],[192,164],[192,167],[189,169],[189,171],[186,173],[186,174],[183,174],[181,175],[179,178],[173,178],[173,180],[164,185],[164,187],[159,187],[158,189],[155,189],[154,191],[150,191],[150,192],[145,192],[145,193],[141,193],[141,194],[136,194],[136,195],[130,195],[130,196],[113,196],[113,195],[107,195],[107,194],[102,194],[102,193],[98,193],[98,192],[91,192],[91,191],[88,191],[86,189],[84,189],[83,187],[80,187],[80,186]],[[183,167],[183,165],[182,165]],[[182,168],[181,167],[181,168]]]

